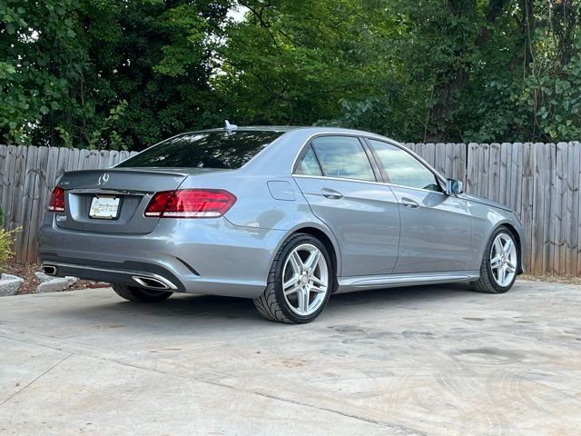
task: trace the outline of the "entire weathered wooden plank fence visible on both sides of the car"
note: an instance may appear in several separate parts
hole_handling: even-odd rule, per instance
[[[468,193],[504,203],[524,224],[527,272],[581,276],[581,144],[406,144]],[[22,226],[16,258],[34,262],[50,192],[71,170],[106,168],[128,152],[0,145],[5,228]]]

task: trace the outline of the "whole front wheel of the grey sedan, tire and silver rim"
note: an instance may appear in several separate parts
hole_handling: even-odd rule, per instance
[[[517,279],[518,247],[515,237],[500,226],[492,233],[480,265],[480,278],[471,282],[478,292],[507,292]]]

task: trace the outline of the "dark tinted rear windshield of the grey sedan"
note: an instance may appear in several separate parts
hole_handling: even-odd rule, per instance
[[[239,131],[181,134],[117,167],[240,168],[284,132]]]

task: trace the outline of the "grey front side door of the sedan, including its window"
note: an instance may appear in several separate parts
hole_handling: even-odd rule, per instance
[[[375,139],[368,143],[399,203],[394,273],[466,270],[472,239],[466,200],[444,193],[435,173],[402,147]]]

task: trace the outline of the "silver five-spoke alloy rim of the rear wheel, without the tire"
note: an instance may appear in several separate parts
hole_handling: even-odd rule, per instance
[[[292,312],[302,316],[317,312],[329,290],[325,256],[312,243],[301,243],[284,263],[282,281],[284,300]]]

